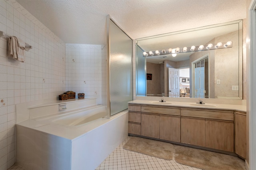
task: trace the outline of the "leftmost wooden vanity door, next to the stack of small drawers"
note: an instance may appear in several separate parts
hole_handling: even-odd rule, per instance
[[[141,135],[159,139],[159,115],[141,113]]]

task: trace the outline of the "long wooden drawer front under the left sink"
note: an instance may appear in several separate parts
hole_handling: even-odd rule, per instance
[[[157,106],[141,106],[141,112],[158,113],[163,115],[180,115],[180,108],[175,107],[157,107]]]

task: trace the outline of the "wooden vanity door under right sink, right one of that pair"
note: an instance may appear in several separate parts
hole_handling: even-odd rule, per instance
[[[234,123],[226,121],[205,121],[206,141],[208,148],[234,152]]]

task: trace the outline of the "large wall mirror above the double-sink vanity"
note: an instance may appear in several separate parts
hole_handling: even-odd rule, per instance
[[[242,20],[136,39],[136,96],[242,99]]]

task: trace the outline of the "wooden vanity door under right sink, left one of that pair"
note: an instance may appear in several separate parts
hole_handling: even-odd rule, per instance
[[[205,147],[205,119],[181,117],[181,143]]]

